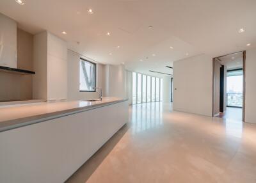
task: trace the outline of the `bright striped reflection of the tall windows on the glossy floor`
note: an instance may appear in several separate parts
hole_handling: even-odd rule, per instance
[[[141,132],[163,124],[162,102],[148,102],[131,106],[132,132]]]

